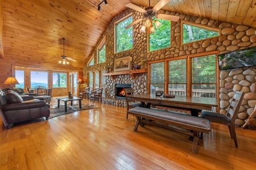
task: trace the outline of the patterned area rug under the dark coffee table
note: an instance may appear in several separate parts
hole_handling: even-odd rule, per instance
[[[82,111],[82,110],[89,110],[89,109],[95,109],[96,107],[94,105],[90,104],[82,104],[81,109],[79,108],[79,104],[73,104],[73,105],[67,105],[67,112],[65,112],[64,105],[60,105],[60,108],[57,106],[50,109],[50,118],[65,115],[65,114],[71,114],[73,112]]]

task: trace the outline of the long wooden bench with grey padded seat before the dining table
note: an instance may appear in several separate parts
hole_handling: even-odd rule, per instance
[[[209,133],[210,121],[188,114],[179,114],[175,112],[160,111],[150,108],[137,107],[127,111],[137,118],[134,131],[137,131],[138,125],[144,126],[156,125],[180,133],[193,136],[192,152],[197,154],[197,145],[199,144],[199,132]]]

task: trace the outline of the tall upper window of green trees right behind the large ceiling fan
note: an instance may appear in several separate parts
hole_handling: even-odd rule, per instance
[[[157,19],[162,25],[159,28],[155,28],[155,32],[149,35],[149,51],[167,48],[171,46],[171,22],[170,20]]]

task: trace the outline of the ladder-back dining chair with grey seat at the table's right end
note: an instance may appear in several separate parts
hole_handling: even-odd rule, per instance
[[[211,112],[211,111],[202,111],[201,117],[206,118],[210,120],[211,122],[215,122],[218,124],[224,124],[228,125],[229,127],[229,133],[230,137],[234,139],[234,143],[236,147],[238,147],[237,144],[237,135],[236,135],[236,128],[235,128],[235,121],[237,118],[238,111],[240,109],[243,95],[245,95],[243,92],[236,91],[234,93],[233,99],[229,105],[228,111],[226,114],[221,114],[217,112]],[[203,135],[203,134],[201,134]]]

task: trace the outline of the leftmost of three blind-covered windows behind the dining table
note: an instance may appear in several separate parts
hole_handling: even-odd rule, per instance
[[[152,63],[150,65],[150,93],[164,91],[164,62]]]

